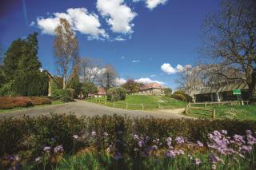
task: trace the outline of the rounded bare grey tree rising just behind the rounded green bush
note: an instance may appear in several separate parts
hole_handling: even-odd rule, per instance
[[[103,69],[98,73],[98,84],[102,86],[106,91],[116,85],[116,78],[118,73],[114,69],[113,65],[105,65]]]

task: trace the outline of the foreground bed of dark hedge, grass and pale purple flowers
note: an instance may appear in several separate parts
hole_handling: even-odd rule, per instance
[[[0,121],[0,168],[22,163],[41,169],[251,169],[255,130],[255,121],[117,115],[6,119]]]

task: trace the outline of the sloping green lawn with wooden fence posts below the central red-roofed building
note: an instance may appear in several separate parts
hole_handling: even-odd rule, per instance
[[[91,98],[87,101],[105,105],[106,97],[102,98]],[[159,97],[159,96],[140,96],[140,95],[128,95],[125,101],[117,101],[115,104],[106,101],[106,106],[126,109],[126,103],[128,103],[128,109],[176,109],[184,108],[187,104],[183,101],[178,101],[170,97]],[[133,105],[138,104],[138,105]]]

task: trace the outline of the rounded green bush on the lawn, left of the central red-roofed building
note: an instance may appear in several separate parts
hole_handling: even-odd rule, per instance
[[[106,93],[108,101],[124,101],[126,99],[126,89],[121,87],[110,88]]]

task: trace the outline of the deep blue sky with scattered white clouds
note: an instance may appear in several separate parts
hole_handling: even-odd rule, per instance
[[[175,89],[178,71],[194,65],[206,14],[219,0],[3,0],[0,43],[37,31],[38,57],[56,73],[52,30],[68,18],[78,36],[81,57],[100,57],[119,77],[160,81]],[[69,10],[68,10],[69,9]]]

